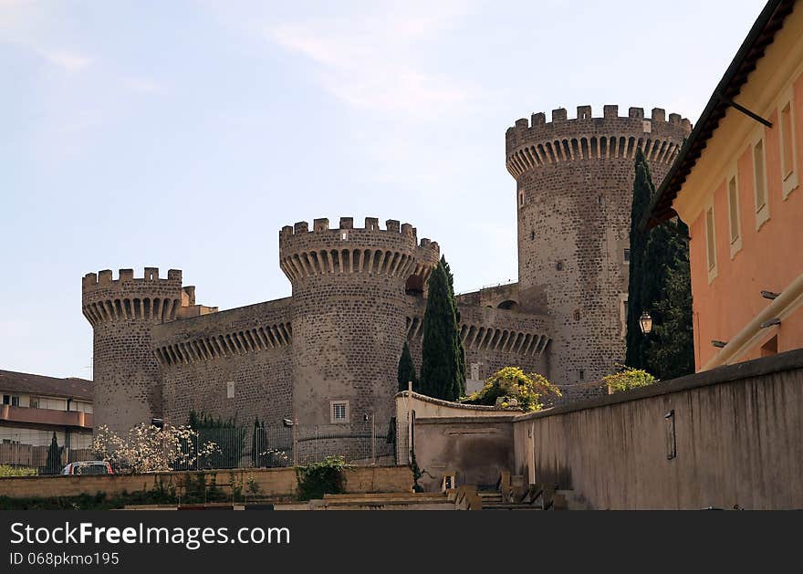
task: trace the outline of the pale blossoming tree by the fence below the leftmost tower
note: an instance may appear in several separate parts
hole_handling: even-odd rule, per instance
[[[92,448],[101,460],[133,473],[171,471],[194,464],[220,449],[212,442],[198,446],[198,433],[188,426],[165,424],[161,429],[140,423],[122,437],[106,425],[98,428]]]

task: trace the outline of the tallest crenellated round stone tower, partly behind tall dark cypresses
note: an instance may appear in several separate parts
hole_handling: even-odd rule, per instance
[[[664,110],[578,107],[506,132],[507,170],[516,179],[518,278],[523,310],[555,319],[553,381],[582,383],[623,362],[635,152],[659,185],[691,123]]]

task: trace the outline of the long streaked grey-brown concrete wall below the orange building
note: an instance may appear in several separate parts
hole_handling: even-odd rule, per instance
[[[593,508],[803,508],[803,350],[522,415],[515,427],[515,472],[573,488]]]

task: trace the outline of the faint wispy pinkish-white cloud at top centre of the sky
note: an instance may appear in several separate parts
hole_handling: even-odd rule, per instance
[[[434,71],[437,41],[464,15],[454,4],[404,5],[402,14],[334,17],[268,29],[281,47],[308,57],[332,96],[360,110],[422,119],[464,110],[469,90]]]

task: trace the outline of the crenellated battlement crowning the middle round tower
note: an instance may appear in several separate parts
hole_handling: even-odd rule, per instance
[[[364,273],[407,278],[423,274],[437,264],[436,242],[422,238],[411,224],[396,219],[385,222],[366,217],[364,227],[354,227],[352,217],[341,217],[330,228],[326,218],[286,225],[279,232],[279,263],[290,281],[304,277]]]

